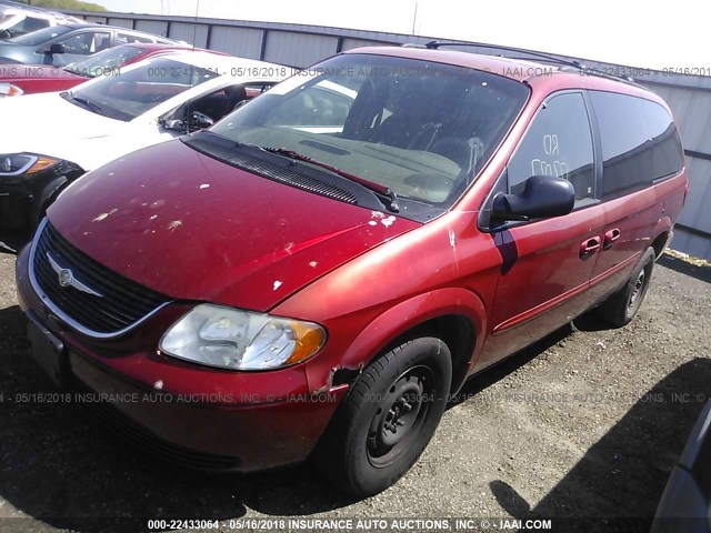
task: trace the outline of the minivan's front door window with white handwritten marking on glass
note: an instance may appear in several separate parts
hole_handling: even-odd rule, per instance
[[[575,205],[595,198],[592,133],[581,93],[560,94],[541,107],[509,161],[509,192],[521,192],[532,175],[570,181]]]

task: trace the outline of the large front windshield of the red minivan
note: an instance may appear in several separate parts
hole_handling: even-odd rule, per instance
[[[216,124],[239,143],[298,152],[393,191],[451,205],[524,105],[517,81],[463,67],[343,54]]]

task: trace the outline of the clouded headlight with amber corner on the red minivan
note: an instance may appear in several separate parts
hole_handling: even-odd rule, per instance
[[[318,324],[201,304],[176,322],[159,348],[173,358],[231,370],[264,370],[306,361],[326,341]]]

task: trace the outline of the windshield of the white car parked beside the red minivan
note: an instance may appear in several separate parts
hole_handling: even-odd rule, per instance
[[[106,76],[62,94],[67,100],[91,108],[99,114],[129,121],[218,76],[202,67],[157,58],[141,62],[120,76]]]

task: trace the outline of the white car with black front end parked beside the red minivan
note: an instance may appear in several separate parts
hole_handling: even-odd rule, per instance
[[[16,251],[28,242],[49,204],[83,173],[208,128],[290,73],[262,61],[173,51],[69,91],[0,99],[0,243]]]

